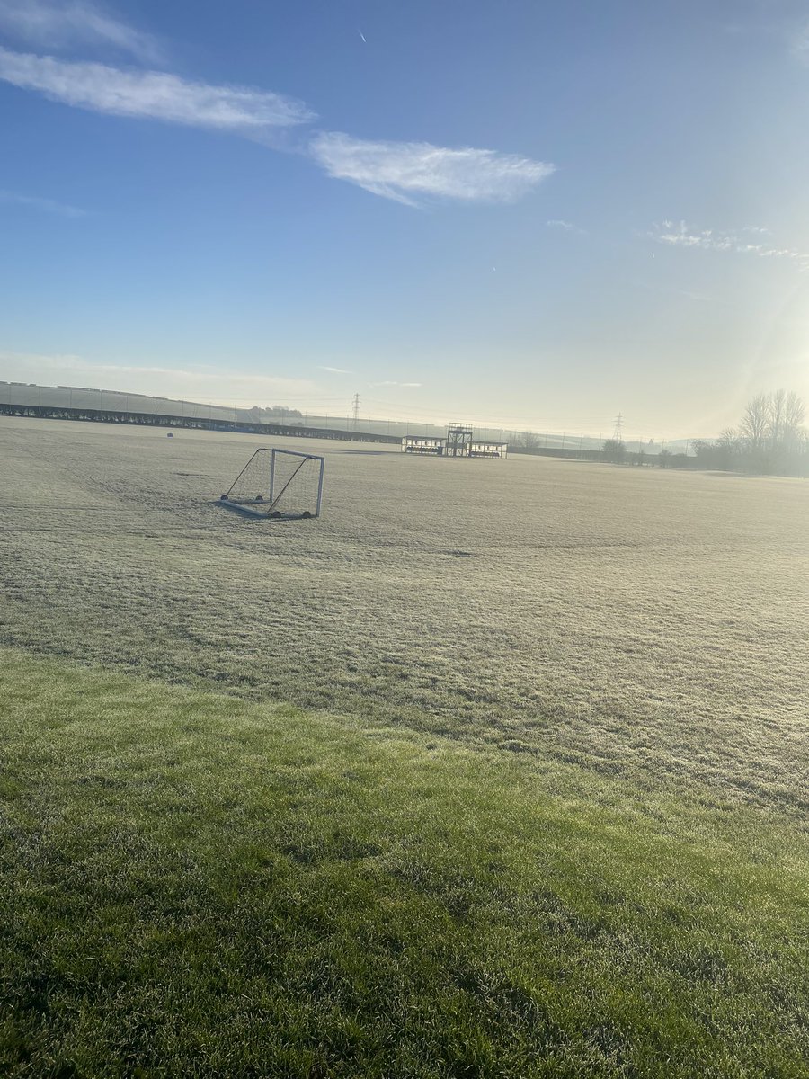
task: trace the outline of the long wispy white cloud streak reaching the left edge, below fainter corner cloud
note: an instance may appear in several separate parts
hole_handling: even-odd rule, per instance
[[[305,123],[300,101],[247,86],[189,82],[163,71],[70,63],[0,46],[0,79],[51,100],[118,117],[148,118],[243,135]]]

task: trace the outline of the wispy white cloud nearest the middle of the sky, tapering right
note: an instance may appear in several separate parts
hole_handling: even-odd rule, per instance
[[[545,162],[494,150],[373,142],[339,132],[316,135],[310,150],[329,176],[410,206],[420,195],[510,202],[553,172]]]

